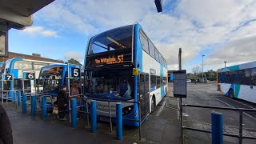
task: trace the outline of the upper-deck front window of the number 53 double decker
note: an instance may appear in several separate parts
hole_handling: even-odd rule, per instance
[[[122,26],[96,35],[90,41],[89,54],[132,47],[133,25]]]

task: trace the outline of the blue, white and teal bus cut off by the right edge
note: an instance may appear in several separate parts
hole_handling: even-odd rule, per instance
[[[256,61],[218,69],[217,75],[221,94],[256,103]]]

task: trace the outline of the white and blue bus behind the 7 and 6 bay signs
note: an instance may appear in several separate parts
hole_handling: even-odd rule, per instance
[[[8,99],[12,100],[14,90],[22,90],[22,93],[35,93],[38,83],[38,75],[43,66],[53,64],[54,62],[36,61],[24,58],[11,58],[2,65],[1,89],[10,91]],[[27,78],[27,73],[34,73],[33,77]],[[8,77],[6,77],[8,75]]]

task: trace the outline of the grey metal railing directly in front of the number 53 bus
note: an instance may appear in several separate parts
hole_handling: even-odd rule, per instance
[[[88,105],[87,105],[87,101],[88,100],[94,100],[96,102],[107,102],[108,103],[108,116],[106,115],[102,115],[106,118],[110,118],[110,132],[112,132],[113,130],[113,124],[112,124],[112,118],[115,118],[113,116],[111,116],[111,103],[116,103],[116,102],[123,102],[123,103],[133,103],[133,104],[138,104],[138,120],[136,119],[130,119],[130,118],[122,118],[123,120],[127,120],[127,121],[132,121],[132,122],[138,122],[139,124],[139,128],[138,128],[138,136],[139,136],[139,140],[142,140],[142,119],[141,119],[141,105],[140,105],[140,102],[129,102],[129,101],[120,101],[120,100],[110,100],[110,99],[100,99],[100,98],[81,98],[80,96],[82,96],[83,94],[78,94],[78,95],[73,95],[73,96],[70,96],[69,97],[69,105],[70,105],[70,99],[71,98],[78,98],[78,99],[81,99],[85,102],[84,105],[81,105],[81,106],[78,106],[79,108],[82,107],[82,106],[85,106],[86,108],[86,111],[81,111],[81,110],[78,110],[78,112],[80,113],[83,113],[83,114],[86,114],[86,118],[87,118],[87,125],[90,126],[90,123],[89,123],[89,110],[88,110]],[[70,113],[71,109],[69,110],[69,113]],[[71,114],[70,114],[70,119],[71,119]]]

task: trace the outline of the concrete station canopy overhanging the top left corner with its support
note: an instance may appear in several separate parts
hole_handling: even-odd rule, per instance
[[[8,30],[32,26],[32,14],[54,0],[0,0],[0,57],[8,55]]]

